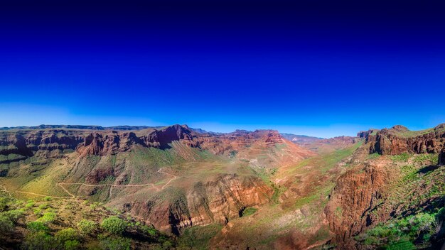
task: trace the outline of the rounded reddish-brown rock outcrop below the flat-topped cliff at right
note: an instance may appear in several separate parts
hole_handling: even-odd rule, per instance
[[[397,175],[385,162],[363,163],[348,170],[336,181],[325,209],[334,241],[347,249],[348,241],[363,228],[375,223],[368,214],[385,196],[387,185]],[[352,248],[353,249],[353,248]]]

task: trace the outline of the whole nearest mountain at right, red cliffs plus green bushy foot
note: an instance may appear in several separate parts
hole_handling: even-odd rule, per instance
[[[369,131],[365,140],[326,206],[333,242],[345,249],[440,249],[445,124],[423,131],[398,125]]]

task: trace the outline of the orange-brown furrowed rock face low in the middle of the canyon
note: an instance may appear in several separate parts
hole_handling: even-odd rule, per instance
[[[225,224],[240,217],[245,207],[269,202],[274,191],[258,178],[232,174],[195,183],[191,190],[178,192],[178,197],[166,198],[159,194],[146,202],[124,205],[124,209],[145,218],[156,228],[178,234],[186,227],[212,222]]]

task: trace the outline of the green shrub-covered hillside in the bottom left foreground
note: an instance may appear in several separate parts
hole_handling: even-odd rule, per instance
[[[93,203],[97,209],[92,211],[87,209],[89,202],[53,199],[24,202],[4,195],[0,193],[0,242],[14,249],[131,249],[136,242],[143,249],[176,246],[176,239],[130,216],[123,219],[112,211],[99,209],[100,203]],[[37,218],[28,209],[29,204],[37,206]],[[100,220],[101,227],[97,227]],[[17,237],[21,240],[17,241]]]

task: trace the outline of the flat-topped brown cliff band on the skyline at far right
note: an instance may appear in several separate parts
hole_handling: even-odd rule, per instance
[[[397,155],[400,153],[439,153],[444,147],[445,124],[426,131],[409,131],[404,126],[382,129],[375,136],[368,134],[370,153]]]

